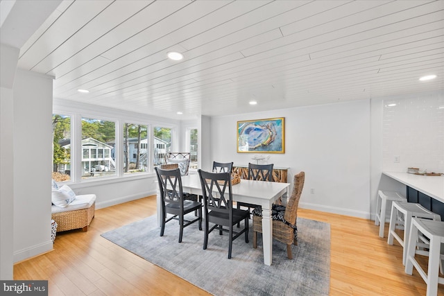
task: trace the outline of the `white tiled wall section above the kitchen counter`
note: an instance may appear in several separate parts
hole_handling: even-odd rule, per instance
[[[444,92],[384,99],[382,147],[383,171],[444,173]]]

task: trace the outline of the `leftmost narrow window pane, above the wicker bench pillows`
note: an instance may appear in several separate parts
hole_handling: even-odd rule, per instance
[[[53,180],[71,180],[71,117],[53,114]]]

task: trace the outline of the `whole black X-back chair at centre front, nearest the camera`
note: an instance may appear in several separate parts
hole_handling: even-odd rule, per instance
[[[233,209],[231,174],[209,173],[198,170],[200,184],[202,186],[203,208],[205,209],[205,236],[203,250],[207,249],[208,234],[214,229],[219,229],[219,234],[228,232],[228,259],[231,259],[233,241],[245,234],[245,242],[248,243],[248,217],[250,212]],[[244,228],[234,232],[233,225],[244,220]],[[214,225],[210,228],[210,223]],[[226,227],[226,228],[224,228]]]

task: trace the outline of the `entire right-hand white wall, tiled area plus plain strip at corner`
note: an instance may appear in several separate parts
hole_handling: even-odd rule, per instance
[[[396,103],[395,107],[388,107]],[[440,109],[441,107],[441,109]],[[391,96],[372,100],[372,166],[370,209],[375,218],[377,190],[398,191],[406,186],[382,171],[405,172],[414,166],[444,171],[444,92]],[[395,156],[400,162],[395,162]],[[386,219],[390,216],[387,207]]]

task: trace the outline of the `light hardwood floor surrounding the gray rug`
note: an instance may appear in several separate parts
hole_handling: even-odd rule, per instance
[[[154,215],[155,202],[151,196],[96,210],[88,232],[58,233],[52,252],[15,264],[14,279],[46,279],[49,295],[210,295],[100,236]],[[400,245],[379,238],[373,221],[305,209],[298,215],[331,225],[330,295],[425,295],[418,272],[404,273]]]

